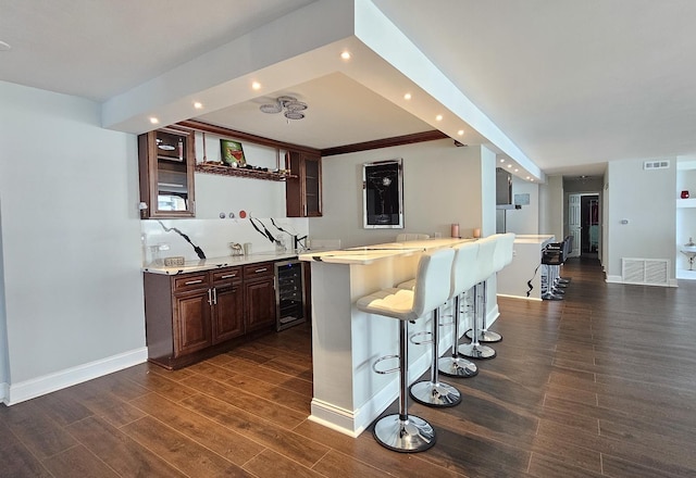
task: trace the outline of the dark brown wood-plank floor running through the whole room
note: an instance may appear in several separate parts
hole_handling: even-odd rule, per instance
[[[574,260],[562,302],[500,299],[505,340],[453,408],[411,405],[419,454],[307,420],[309,329],[170,373],[139,365],[0,406],[2,477],[696,477],[696,284],[605,284]]]

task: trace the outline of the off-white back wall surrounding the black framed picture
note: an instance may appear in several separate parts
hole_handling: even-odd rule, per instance
[[[363,229],[362,164],[398,158],[403,160],[405,228]],[[495,207],[495,158],[490,168]],[[452,223],[459,223],[462,236],[483,229],[478,147],[457,148],[451,140],[439,140],[341,154],[324,158],[322,173],[324,216],[310,218],[312,240],[341,239],[345,248],[393,241],[399,232],[449,237]]]

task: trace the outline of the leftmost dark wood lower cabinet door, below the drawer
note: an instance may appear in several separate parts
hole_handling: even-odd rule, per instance
[[[177,293],[174,302],[174,355],[212,345],[208,289]]]

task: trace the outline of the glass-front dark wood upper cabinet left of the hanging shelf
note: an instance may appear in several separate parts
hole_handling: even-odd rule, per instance
[[[163,128],[138,136],[142,218],[192,217],[194,133]]]

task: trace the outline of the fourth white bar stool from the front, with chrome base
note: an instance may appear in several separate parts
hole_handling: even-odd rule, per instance
[[[487,238],[481,239],[478,242],[478,255],[476,256],[476,275],[475,275],[475,286],[474,286],[474,316],[472,319],[471,326],[471,343],[464,343],[459,345],[459,354],[467,356],[469,358],[493,358],[496,356],[496,351],[493,350],[488,345],[483,345],[478,341],[480,329],[478,329],[478,315],[480,311],[480,301],[478,301],[478,290],[483,290],[483,314],[487,313],[486,311],[486,279],[490,277],[494,273],[494,255],[496,251],[496,243],[498,242],[498,238],[495,236],[489,236]]]

